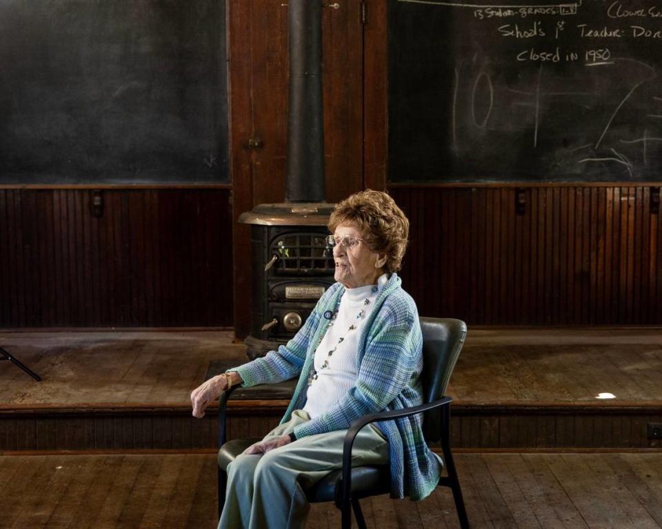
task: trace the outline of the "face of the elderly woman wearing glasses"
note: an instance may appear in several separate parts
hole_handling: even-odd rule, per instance
[[[354,237],[365,239],[364,234],[354,224],[339,224],[333,232],[336,239]],[[359,242],[354,248],[337,244],[333,248],[333,259],[336,264],[334,279],[345,288],[374,285],[377,278],[384,273],[385,256],[370,250],[368,243]],[[375,266],[377,264],[377,266]]]

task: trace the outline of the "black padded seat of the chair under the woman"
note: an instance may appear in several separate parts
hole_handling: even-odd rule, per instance
[[[219,450],[219,467],[226,471],[228,465],[241,452],[260,441],[261,437],[248,437],[228,441]],[[336,490],[340,491],[342,470],[334,470],[305,491],[308,501],[335,501]],[[363,498],[390,492],[391,474],[388,465],[355,466],[352,468],[352,497]],[[339,492],[340,494],[340,492]]]

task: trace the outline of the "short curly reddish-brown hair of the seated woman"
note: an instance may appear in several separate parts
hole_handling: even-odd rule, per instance
[[[385,272],[400,270],[407,249],[409,221],[397,203],[385,192],[367,189],[336,204],[328,228],[355,224],[373,252],[386,255]]]

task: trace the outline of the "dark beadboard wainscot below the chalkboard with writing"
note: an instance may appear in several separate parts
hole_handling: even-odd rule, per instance
[[[411,221],[419,312],[479,325],[662,323],[660,215],[649,187],[393,186]]]

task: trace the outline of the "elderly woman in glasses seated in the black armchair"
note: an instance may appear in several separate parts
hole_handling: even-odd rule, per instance
[[[395,272],[409,222],[388,194],[367,190],[337,204],[329,246],[334,283],[286,346],[192,392],[193,415],[230,386],[299,377],[280,426],[228,467],[219,528],[302,527],[304,490],[341,468],[343,438],[365,414],[422,403],[417,308]],[[439,460],[423,441],[421,416],[363,428],[353,464],[390,464],[391,495],[422,499],[439,481]]]

